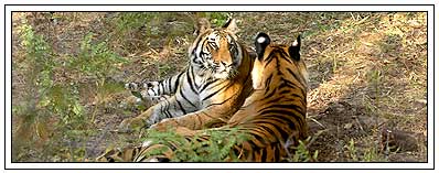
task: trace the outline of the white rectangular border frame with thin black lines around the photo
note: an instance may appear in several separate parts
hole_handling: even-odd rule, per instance
[[[56,3],[56,2],[55,2]],[[427,163],[11,163],[11,11],[428,11],[428,162]],[[3,17],[6,14],[6,18]],[[6,93],[1,90],[1,107],[6,112],[6,149],[4,138],[1,141],[1,153],[6,155],[6,169],[433,169],[433,15],[439,17],[438,12],[433,14],[432,6],[7,6],[6,13],[1,18],[6,19],[6,26],[2,29],[2,39],[6,39],[6,62],[1,61],[4,72],[1,76],[7,76],[0,83],[6,86]],[[6,30],[6,35],[3,35]],[[438,37],[436,37],[438,39]],[[2,43],[3,44],[3,43]],[[436,55],[436,54],[435,54]],[[437,65],[435,62],[435,65]],[[6,64],[3,64],[6,63]],[[6,73],[6,74],[3,74]],[[436,78],[436,77],[435,77]],[[4,82],[4,84],[3,84]],[[6,95],[4,95],[6,94]],[[8,104],[6,105],[7,101]],[[437,122],[437,121],[436,121]],[[1,133],[4,133],[4,129]],[[437,131],[436,131],[437,132]],[[9,149],[9,150],[8,150]],[[436,152],[436,151],[435,151]],[[1,158],[3,160],[3,158]],[[3,161],[1,161],[3,162]],[[3,163],[1,163],[3,164]],[[349,171],[349,170],[347,170]],[[419,171],[417,171],[419,172]]]

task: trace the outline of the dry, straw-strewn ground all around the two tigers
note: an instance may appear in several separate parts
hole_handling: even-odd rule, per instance
[[[115,130],[121,120],[139,115],[149,104],[135,105],[129,91],[105,89],[104,84],[157,80],[182,71],[188,62],[186,50],[195,37],[194,20],[206,17],[218,24],[226,15],[13,13],[12,106],[17,109],[12,113],[13,160],[90,161],[105,149],[138,141],[141,134]],[[427,161],[425,12],[245,12],[232,15],[240,29],[238,37],[249,46],[258,32],[268,33],[278,43],[292,43],[301,34],[301,55],[310,74],[308,122],[311,139],[307,147],[311,153],[318,151],[315,161]],[[24,39],[20,36],[23,35],[21,26],[25,24],[32,26],[35,35],[42,35],[51,47],[51,61],[55,62],[49,77],[53,82],[51,85],[76,86],[73,88],[77,94],[68,94],[68,97],[77,96],[76,105],[84,111],[75,111],[78,109],[71,107],[74,101],[67,104],[66,109],[73,111],[72,115],[81,115],[86,127],[77,128],[76,123],[63,121],[60,118],[63,113],[55,113],[58,109],[46,112],[50,116],[45,118],[19,111],[22,107],[41,111],[39,104],[34,106],[28,99],[32,96],[28,79],[32,73],[26,64],[31,53],[26,52]],[[113,73],[107,68],[87,71],[104,74],[97,77],[62,66],[63,62],[82,55],[86,35],[92,36],[86,45],[105,43],[107,46],[104,51],[95,47],[96,58],[100,60],[98,55],[103,52],[113,52],[127,62],[113,62],[110,65],[116,69]],[[99,83],[99,77],[105,80]],[[38,83],[36,86],[43,85]],[[55,123],[58,121],[63,123]],[[60,136],[60,130],[81,134]],[[36,142],[36,147],[26,145],[29,141]],[[53,151],[41,149],[47,144]]]

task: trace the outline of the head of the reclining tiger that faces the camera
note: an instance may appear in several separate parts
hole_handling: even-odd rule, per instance
[[[199,35],[189,48],[191,63],[217,79],[233,78],[242,64],[243,48],[235,35],[236,20],[231,19],[220,29],[212,29],[210,22],[197,22]]]

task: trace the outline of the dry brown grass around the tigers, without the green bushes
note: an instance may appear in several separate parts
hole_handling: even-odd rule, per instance
[[[93,32],[95,40],[108,42],[111,50],[130,61],[120,66],[121,73],[111,76],[117,82],[160,79],[185,66],[186,48],[193,40],[193,23],[188,13],[168,13],[148,23],[151,31],[158,32],[156,34],[146,32],[144,28],[120,33],[115,23],[108,22],[115,15],[118,14],[15,13],[13,20],[17,29],[26,19],[60,58],[75,55],[78,43]],[[242,29],[238,35],[247,45],[253,45],[254,35],[261,31],[283,43],[302,34],[301,53],[310,72],[309,122],[313,133],[323,131],[310,143],[311,151],[319,151],[319,161],[427,160],[426,13],[264,12],[233,15]],[[13,63],[20,64],[25,57],[15,31]],[[13,71],[12,75],[12,105],[15,106],[24,101],[26,84],[23,69]],[[90,83],[84,76],[66,77]],[[84,85],[79,95],[87,112],[92,112],[96,104],[93,85]],[[73,148],[84,148],[88,158],[93,158],[108,145],[136,141],[138,136],[108,131],[124,118],[140,112],[136,106],[127,104],[129,96],[129,93],[120,91],[106,97],[96,111],[94,127],[103,130],[85,139],[85,145]],[[14,128],[17,126],[15,121]],[[389,152],[383,148],[385,130],[393,131],[389,139],[400,148],[399,151]],[[403,145],[400,141],[413,141],[415,147]],[[24,153],[26,156],[18,161],[72,161],[68,159],[72,155],[45,155],[42,159],[34,152],[30,149]]]

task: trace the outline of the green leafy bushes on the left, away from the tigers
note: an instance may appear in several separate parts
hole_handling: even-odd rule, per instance
[[[69,55],[69,62],[63,62],[55,58],[52,47],[31,25],[24,23],[19,30],[25,53],[24,62],[17,64],[14,71],[24,73],[24,87],[28,89],[23,96],[28,98],[13,111],[13,117],[18,119],[13,133],[13,160],[84,161],[86,151],[81,145],[96,133],[93,122],[99,104],[106,96],[124,88],[108,83],[106,78],[118,71],[115,64],[126,61],[110,52],[105,42],[92,43],[92,34],[88,34],[81,43],[79,54]],[[58,64],[66,65],[60,67]],[[82,84],[74,78],[60,80],[55,76],[61,74],[95,82],[97,105],[92,113],[82,104]],[[68,140],[69,145],[65,145],[63,140]],[[30,151],[40,154],[34,155]],[[51,155],[60,158],[51,159]]]

